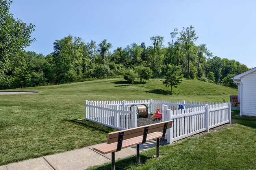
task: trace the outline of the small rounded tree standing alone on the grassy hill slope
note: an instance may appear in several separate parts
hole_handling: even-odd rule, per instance
[[[182,77],[183,75],[181,74],[180,67],[174,66],[173,64],[168,64],[163,84],[165,84],[165,87],[171,86],[172,92],[172,88],[177,88],[177,85],[182,82]]]

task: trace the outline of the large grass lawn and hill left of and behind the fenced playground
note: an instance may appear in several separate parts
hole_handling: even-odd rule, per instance
[[[0,95],[0,165],[106,142],[113,129],[83,121],[85,100],[229,101],[237,90],[184,79],[165,88],[161,79],[129,84],[124,79],[12,89],[34,94]]]

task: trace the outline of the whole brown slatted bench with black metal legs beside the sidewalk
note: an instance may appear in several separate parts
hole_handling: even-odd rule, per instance
[[[165,121],[156,124],[150,124],[146,126],[140,126],[137,128],[131,128],[127,130],[121,130],[117,132],[108,133],[108,140],[106,144],[93,147],[102,154],[108,154],[111,152],[112,170],[115,170],[115,152],[120,151],[123,148],[137,145],[137,164],[140,164],[139,160],[139,144],[143,144],[147,141],[156,139],[156,157],[159,156],[159,138],[165,137],[166,130],[171,128],[173,121]],[[163,132],[158,132],[163,131]]]

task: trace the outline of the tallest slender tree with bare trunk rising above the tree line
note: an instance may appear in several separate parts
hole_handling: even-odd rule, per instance
[[[189,62],[191,59],[191,55],[194,53],[193,48],[195,47],[194,41],[197,40],[197,34],[193,26],[190,27],[182,27],[182,31],[180,32],[180,41],[182,43],[183,48],[186,50],[186,70],[187,76],[189,76]]]

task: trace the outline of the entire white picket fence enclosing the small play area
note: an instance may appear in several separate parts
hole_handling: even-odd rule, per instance
[[[85,101],[85,120],[124,130],[137,127],[137,108],[133,104],[146,104],[148,113],[157,109],[163,113],[163,121],[173,120],[167,130],[167,143],[190,135],[209,131],[210,128],[231,123],[231,107],[228,103],[187,101]],[[182,104],[184,109],[178,110]]]

